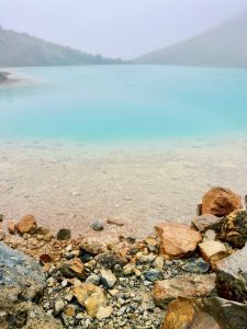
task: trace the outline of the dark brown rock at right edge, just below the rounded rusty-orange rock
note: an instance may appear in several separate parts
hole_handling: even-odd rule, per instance
[[[247,212],[236,211],[229,214],[221,229],[220,239],[235,248],[243,248],[247,241]]]

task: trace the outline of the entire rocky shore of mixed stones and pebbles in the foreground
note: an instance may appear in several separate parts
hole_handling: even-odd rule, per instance
[[[0,220],[0,328],[247,328],[247,212],[227,189],[190,226],[164,222],[142,241]]]

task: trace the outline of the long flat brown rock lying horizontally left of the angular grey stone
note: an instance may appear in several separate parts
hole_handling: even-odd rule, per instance
[[[157,281],[153,290],[155,304],[166,308],[168,303],[178,297],[209,297],[216,294],[216,275],[180,276],[165,281]]]

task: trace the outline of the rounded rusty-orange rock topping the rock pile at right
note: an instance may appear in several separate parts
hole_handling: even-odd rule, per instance
[[[228,189],[213,188],[202,197],[202,214],[223,217],[242,207],[240,195]]]

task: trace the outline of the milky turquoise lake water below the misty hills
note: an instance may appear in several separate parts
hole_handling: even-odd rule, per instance
[[[247,133],[247,70],[166,66],[9,69],[1,139],[81,141]]]

